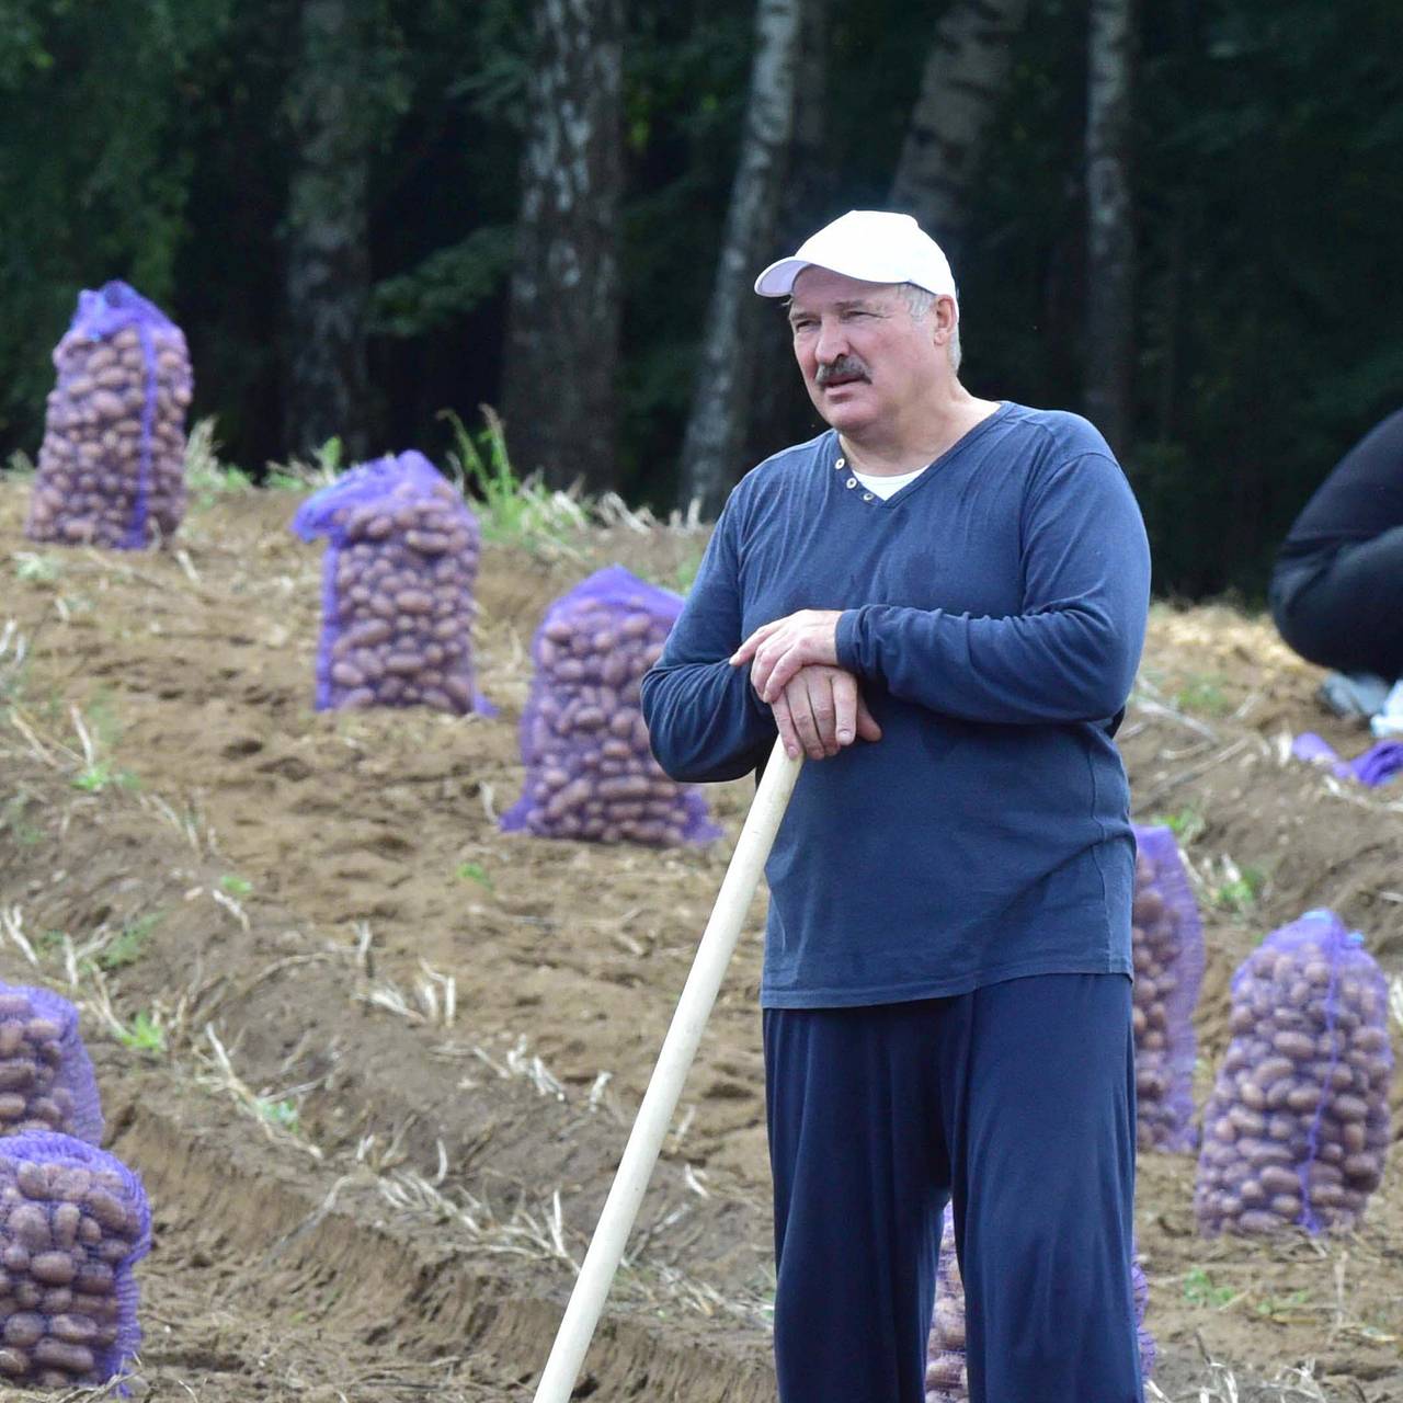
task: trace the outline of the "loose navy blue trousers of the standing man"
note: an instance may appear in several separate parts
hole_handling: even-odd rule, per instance
[[[971,1403],[1142,1403],[1122,975],[766,1009],[781,1403],[923,1403],[954,1202]]]

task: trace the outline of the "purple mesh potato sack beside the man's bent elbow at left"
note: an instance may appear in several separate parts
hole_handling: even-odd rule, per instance
[[[697,790],[654,760],[638,706],[643,675],[680,610],[679,595],[622,565],[596,571],[546,610],[522,713],[526,784],[502,815],[506,832],[655,845],[720,835]]]

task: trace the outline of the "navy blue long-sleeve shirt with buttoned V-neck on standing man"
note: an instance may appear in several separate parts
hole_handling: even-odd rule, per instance
[[[804,766],[766,867],[760,1002],[836,1007],[1031,974],[1129,974],[1134,838],[1111,739],[1149,551],[1104,439],[1003,404],[887,501],[828,432],[731,494],[644,678],[679,780],[753,770],[770,709],[727,658],[838,609],[882,739]]]

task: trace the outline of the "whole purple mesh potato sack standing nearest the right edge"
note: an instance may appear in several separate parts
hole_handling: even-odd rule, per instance
[[[1204,1111],[1200,1229],[1351,1228],[1383,1174],[1388,988],[1331,911],[1274,930],[1232,979],[1232,1041]]]

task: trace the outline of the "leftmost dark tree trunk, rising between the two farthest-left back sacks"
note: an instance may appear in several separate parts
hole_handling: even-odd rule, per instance
[[[307,453],[340,436],[366,450],[366,189],[373,136],[369,22],[361,0],[303,0],[288,118],[285,442]]]

